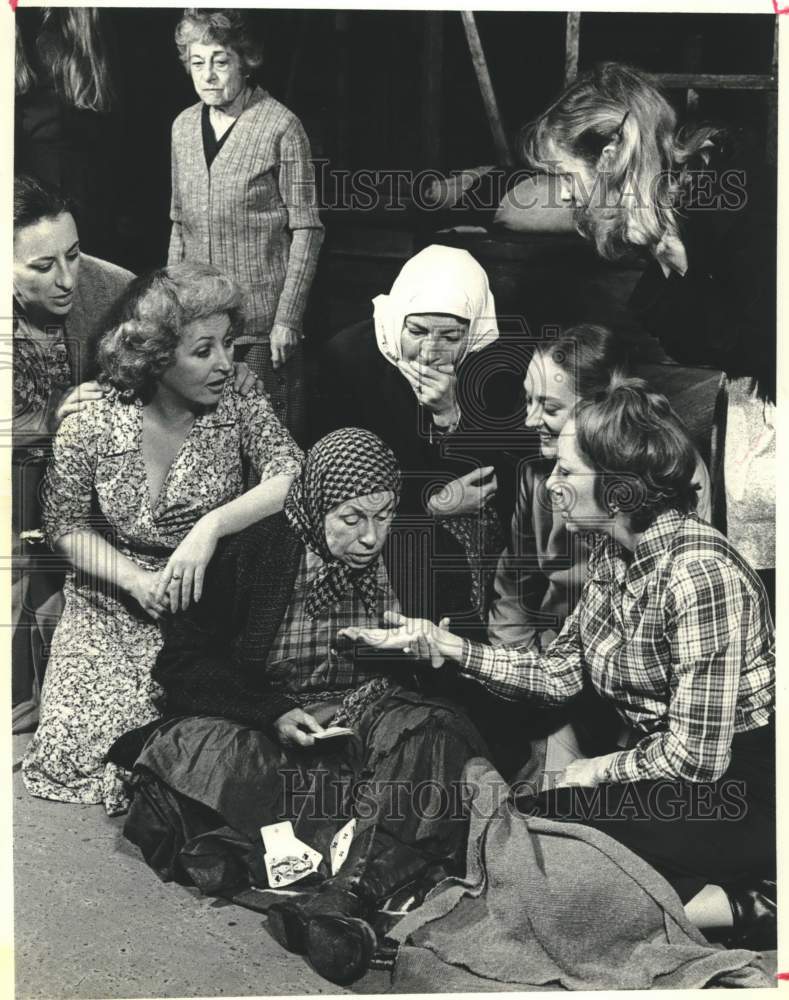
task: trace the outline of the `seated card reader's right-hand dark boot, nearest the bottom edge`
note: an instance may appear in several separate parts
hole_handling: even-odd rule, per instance
[[[370,968],[378,949],[369,920],[394,892],[416,883],[429,865],[412,847],[395,844],[368,862],[356,886],[362,901],[359,914],[323,913],[310,917],[306,928],[307,955],[324,979],[347,986]]]

